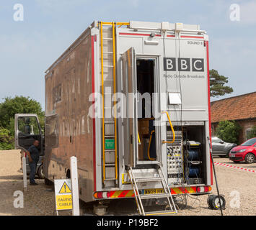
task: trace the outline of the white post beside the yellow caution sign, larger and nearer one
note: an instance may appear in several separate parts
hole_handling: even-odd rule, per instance
[[[72,201],[73,201],[73,216],[79,216],[79,187],[77,176],[77,160],[76,157],[70,157],[71,168],[71,185],[72,185]]]

